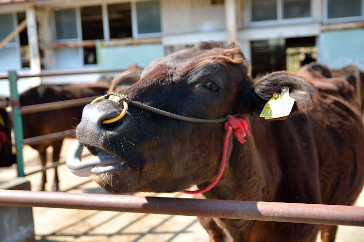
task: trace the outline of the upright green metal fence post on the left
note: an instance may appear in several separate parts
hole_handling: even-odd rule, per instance
[[[24,177],[23,164],[23,125],[20,116],[19,93],[17,92],[17,73],[9,71],[10,106],[12,106],[12,119],[15,133],[15,148],[17,150],[17,176]]]

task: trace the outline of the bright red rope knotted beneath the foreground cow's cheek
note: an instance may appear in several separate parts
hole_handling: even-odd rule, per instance
[[[234,117],[232,117],[232,115],[228,115],[226,117],[228,118],[228,121],[226,121],[224,123],[224,128],[226,129],[225,140],[224,140],[224,149],[222,151],[220,169],[219,169],[219,172],[217,173],[215,180],[210,185],[208,185],[207,187],[205,187],[203,189],[199,189],[196,191],[184,190],[184,191],[182,191],[182,193],[198,194],[198,193],[204,193],[204,192],[210,190],[211,188],[213,188],[216,185],[216,183],[220,180],[222,173],[224,172],[226,154],[228,151],[229,137],[230,137],[230,134],[232,133],[232,131],[234,131],[234,135],[242,144],[244,142],[246,142],[246,140],[243,137],[246,135],[250,136],[249,131],[248,131],[247,121],[245,121],[243,119],[235,119]]]

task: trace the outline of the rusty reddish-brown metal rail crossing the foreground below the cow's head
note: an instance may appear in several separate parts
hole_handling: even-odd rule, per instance
[[[364,207],[0,190],[0,205],[364,227]]]

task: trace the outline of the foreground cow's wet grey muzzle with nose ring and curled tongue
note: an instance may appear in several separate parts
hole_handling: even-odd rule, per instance
[[[120,110],[120,106],[114,100],[106,99],[98,103],[99,101],[96,99],[83,108],[82,120],[76,130],[78,140],[67,151],[66,165],[80,177],[111,172],[124,164],[120,157],[106,149],[109,145],[103,141],[123,122],[120,119],[126,114],[127,105]],[[88,148],[92,147],[92,154],[95,155],[84,162],[81,161],[83,144]]]

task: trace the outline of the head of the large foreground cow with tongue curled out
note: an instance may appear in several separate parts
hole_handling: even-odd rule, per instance
[[[235,44],[199,43],[151,62],[123,94],[171,113],[203,119],[229,114],[248,119],[284,86],[296,99],[294,112],[313,106],[315,89],[309,82],[279,72],[254,83],[249,68]],[[85,106],[76,132],[79,143],[73,144],[67,157],[67,166],[76,175],[92,175],[113,193],[176,192],[214,180],[223,149],[223,124],[178,121],[133,106],[122,119],[103,123],[121,110],[110,100]],[[81,144],[93,159],[78,160]]]

